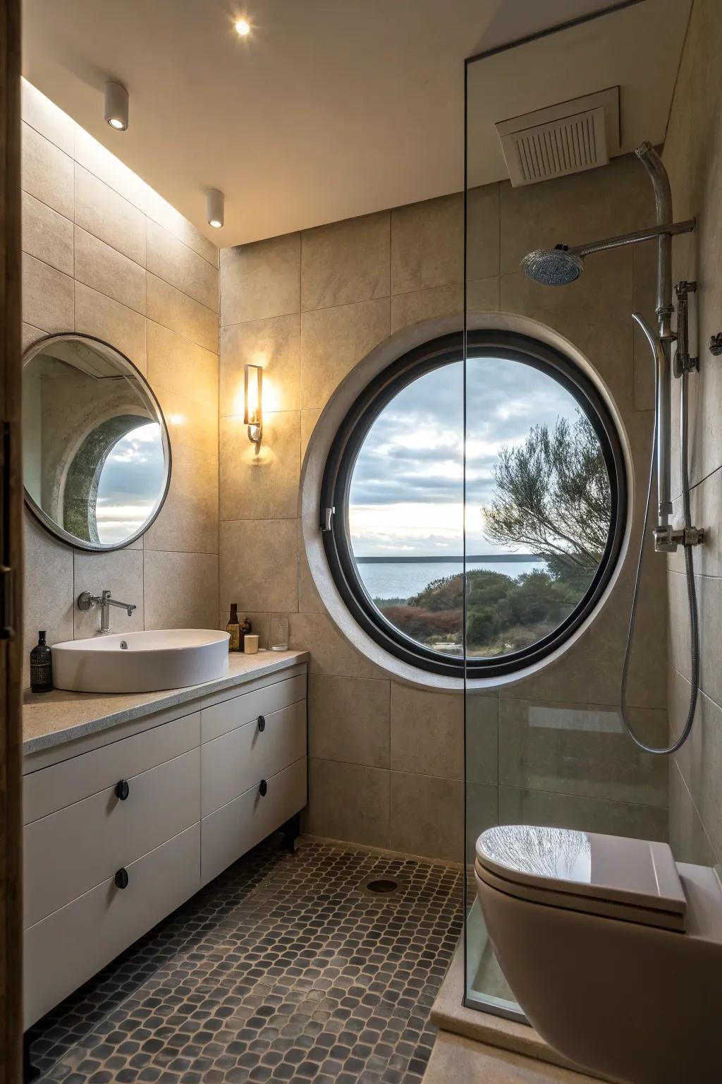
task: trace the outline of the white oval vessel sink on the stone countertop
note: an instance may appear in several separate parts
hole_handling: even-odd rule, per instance
[[[157,693],[223,678],[228,633],[159,629],[52,645],[53,684],[75,693]]]

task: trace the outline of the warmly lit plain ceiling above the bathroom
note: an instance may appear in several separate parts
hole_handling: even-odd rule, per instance
[[[464,57],[614,0],[234,2],[24,10],[26,78],[221,246],[459,191]],[[494,121],[611,85],[625,149],[659,142],[690,3],[642,0],[565,31],[563,50],[546,38],[476,64],[476,182],[506,176]],[[103,120],[108,77],[130,92],[123,133]],[[206,188],[226,194],[222,230]]]

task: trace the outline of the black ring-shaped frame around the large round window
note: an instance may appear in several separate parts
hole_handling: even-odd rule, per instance
[[[415,347],[380,372],[356,398],[331,444],[320,489],[319,526],[331,576],[357,624],[395,658],[448,676],[499,678],[551,655],[596,607],[617,566],[627,526],[627,469],[614,418],[589,376],[561,350],[527,335],[501,330],[467,332],[467,357],[494,357],[531,365],[557,380],[576,400],[596,433],[607,467],[612,516],[599,568],[579,603],[541,640],[504,656],[458,658],[442,655],[405,635],[371,601],[358,573],[349,534],[349,491],[357,454],[381,411],[406,385],[464,358],[464,333],[455,332]],[[328,515],[328,509],[333,509]],[[465,629],[464,629],[465,644]]]

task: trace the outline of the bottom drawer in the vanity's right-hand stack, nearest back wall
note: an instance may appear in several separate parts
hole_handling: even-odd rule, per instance
[[[307,793],[305,757],[266,783],[265,797],[255,785],[201,821],[204,885],[303,809]]]

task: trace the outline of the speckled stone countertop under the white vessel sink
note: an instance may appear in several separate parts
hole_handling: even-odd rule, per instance
[[[54,689],[52,693],[28,692],[23,705],[23,753],[50,749],[119,723],[143,719],[154,711],[221,693],[225,688],[241,685],[245,681],[264,678],[299,662],[306,662],[307,659],[307,651],[260,650],[258,655],[233,653],[228,656],[228,670],[223,678],[159,693],[68,693],[63,689]]]

